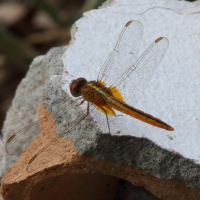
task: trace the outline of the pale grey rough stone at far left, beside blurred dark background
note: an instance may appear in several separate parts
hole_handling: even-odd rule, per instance
[[[30,65],[26,77],[21,81],[16,90],[12,106],[6,114],[2,133],[3,140],[1,144],[0,159],[0,177],[3,176],[13,163],[19,158],[19,155],[10,156],[5,152],[5,144],[8,138],[24,126],[37,120],[37,109],[42,96],[42,74],[41,62],[43,56],[35,58]]]

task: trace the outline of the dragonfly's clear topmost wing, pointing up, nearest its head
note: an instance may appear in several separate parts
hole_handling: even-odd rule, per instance
[[[138,21],[129,21],[123,28],[117,44],[100,69],[98,80],[108,86],[136,62],[141,46],[143,25]]]

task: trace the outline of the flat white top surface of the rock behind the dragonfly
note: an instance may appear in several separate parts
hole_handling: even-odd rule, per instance
[[[100,67],[114,49],[130,20],[144,26],[139,55],[158,37],[169,48],[135,108],[160,118],[175,130],[162,130],[123,115],[111,128],[121,135],[145,137],[186,158],[200,160],[200,6],[199,2],[116,0],[92,10],[76,22],[78,31],[63,62],[65,89],[71,79],[96,80]],[[123,67],[123,66],[122,66]],[[130,91],[131,92],[131,91]],[[105,118],[106,120],[106,118]]]

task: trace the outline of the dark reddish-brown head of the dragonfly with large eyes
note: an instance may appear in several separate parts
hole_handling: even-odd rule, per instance
[[[87,80],[84,78],[78,78],[76,80],[72,80],[72,82],[69,84],[70,87],[70,93],[74,97],[81,96],[81,87],[87,83]]]

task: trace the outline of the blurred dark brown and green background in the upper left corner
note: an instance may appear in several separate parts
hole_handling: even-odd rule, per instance
[[[104,1],[0,1],[0,130],[33,58],[52,47],[67,45],[71,25],[83,12],[98,8]]]

